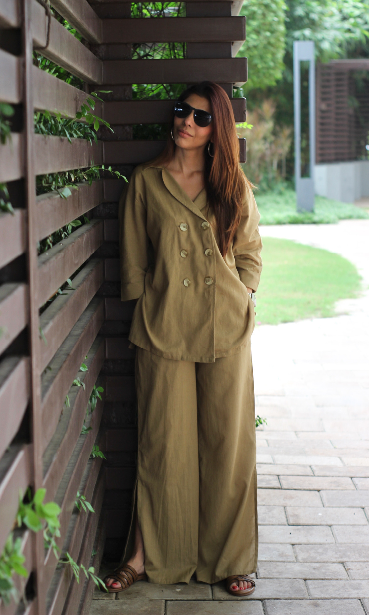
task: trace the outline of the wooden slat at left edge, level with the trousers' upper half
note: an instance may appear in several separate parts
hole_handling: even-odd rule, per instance
[[[30,360],[6,357],[0,363],[0,456],[22,423],[30,397]]]

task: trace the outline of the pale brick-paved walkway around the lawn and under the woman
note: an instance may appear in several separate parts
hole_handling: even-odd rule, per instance
[[[261,232],[341,253],[368,288],[369,220]],[[140,582],[96,592],[90,615],[369,615],[369,292],[339,302],[338,314],[253,334],[256,411],[268,427],[257,433],[252,597]]]

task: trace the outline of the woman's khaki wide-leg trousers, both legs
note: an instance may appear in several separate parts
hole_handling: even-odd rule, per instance
[[[250,343],[194,363],[137,348],[135,490],[155,583],[215,583],[256,569],[255,406]],[[134,520],[124,560],[132,548]]]

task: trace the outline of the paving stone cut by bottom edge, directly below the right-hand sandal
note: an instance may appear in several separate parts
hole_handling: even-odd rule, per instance
[[[258,601],[186,600],[167,602],[167,615],[263,615],[263,603]]]

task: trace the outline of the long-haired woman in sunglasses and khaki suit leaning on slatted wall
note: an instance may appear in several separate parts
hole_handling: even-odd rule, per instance
[[[164,153],[134,170],[119,214],[122,300],[137,300],[138,467],[127,546],[106,584],[188,583],[196,572],[248,595],[260,216],[219,85],[181,95]]]

